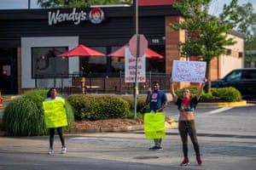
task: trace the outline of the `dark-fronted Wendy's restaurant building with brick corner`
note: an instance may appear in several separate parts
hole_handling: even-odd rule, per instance
[[[146,59],[147,78],[139,85],[140,93],[154,81],[168,91],[172,61],[184,60],[177,51],[177,43],[186,41],[186,31],[173,31],[169,27],[170,23],[183,20],[172,7],[173,2],[139,1],[137,20],[135,8],[130,6],[0,10],[2,94],[51,87],[68,94],[84,94],[88,90],[129,94],[133,84],[125,83],[123,78],[125,59],[108,54],[129,42],[136,29],[147,38],[148,48],[164,57]],[[244,36],[234,31],[230,37],[237,43],[227,47],[229,56],[212,60],[212,80],[243,67]],[[58,57],[79,44],[106,56]],[[180,82],[176,88],[185,85]]]

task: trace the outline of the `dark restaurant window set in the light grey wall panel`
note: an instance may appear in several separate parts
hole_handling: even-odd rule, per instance
[[[32,48],[32,78],[68,74],[68,59],[58,57],[67,47]]]

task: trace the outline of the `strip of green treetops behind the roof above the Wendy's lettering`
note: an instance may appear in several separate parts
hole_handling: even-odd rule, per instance
[[[90,5],[131,4],[131,0],[38,0],[42,8],[87,8]]]

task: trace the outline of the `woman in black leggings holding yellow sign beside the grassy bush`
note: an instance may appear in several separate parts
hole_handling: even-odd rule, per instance
[[[56,96],[57,90],[56,88],[50,88],[49,92],[47,93],[47,99],[45,99],[44,105],[44,116],[46,119],[46,125],[49,127],[49,151],[48,154],[53,154],[53,144],[54,144],[54,137],[55,137],[55,128],[57,129],[57,133],[61,139],[61,153],[64,154],[67,152],[67,147],[65,145],[65,139],[63,137],[63,130],[62,126],[67,125],[67,116],[66,116],[66,105],[61,97]],[[55,102],[57,101],[57,102]],[[50,108],[53,107],[53,108]],[[58,109],[58,107],[61,107]],[[62,111],[62,115],[57,115],[53,112],[55,109],[64,110]],[[63,116],[64,114],[64,116]],[[47,116],[47,117],[46,117]],[[61,117],[55,117],[61,116]],[[53,121],[55,120],[55,121]],[[61,126],[61,127],[60,127]]]

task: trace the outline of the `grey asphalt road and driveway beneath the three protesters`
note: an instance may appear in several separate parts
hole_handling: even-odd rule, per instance
[[[256,135],[252,127],[242,129],[241,132],[239,130],[232,132],[229,122],[225,125],[223,122],[215,121],[219,119],[214,115],[217,111],[229,113],[228,110],[219,109],[218,106],[216,109],[213,108],[215,106],[212,106],[213,109],[209,109],[208,105],[199,105],[199,107],[202,108],[202,112],[206,112],[206,115],[200,116],[201,114],[198,113],[197,120],[204,120],[201,122],[202,124],[210,125],[212,123],[208,128],[204,125],[205,130],[201,129],[198,133],[202,166],[198,166],[195,161],[195,152],[190,141],[190,164],[187,167],[179,166],[183,156],[176,125],[166,128],[166,138],[163,139],[162,144],[164,150],[160,151],[148,150],[153,141],[145,139],[143,130],[124,133],[66,133],[66,154],[61,154],[61,143],[55,136],[55,153],[53,155],[47,154],[48,136],[0,137],[0,169],[254,169],[256,166]],[[204,107],[207,107],[207,111],[204,110]],[[240,112],[244,111],[249,112],[248,116],[253,116],[254,106],[248,109],[246,107],[235,112],[237,117],[247,116],[247,113],[241,116]],[[173,105],[166,108],[166,112],[169,113],[176,110],[177,108]],[[224,122],[228,120],[234,122],[232,118],[235,117],[235,114],[232,114],[223,116]],[[177,114],[173,113],[170,116],[174,116],[174,119],[177,120]],[[211,122],[212,120],[213,122]],[[252,122],[253,120],[254,118]],[[236,122],[243,121],[237,119]],[[216,128],[218,131],[214,131],[213,123],[220,128],[229,127],[229,131],[224,132],[218,128]],[[201,127],[199,121],[198,125]],[[246,122],[243,125],[246,126]],[[236,127],[236,129],[241,128]]]

